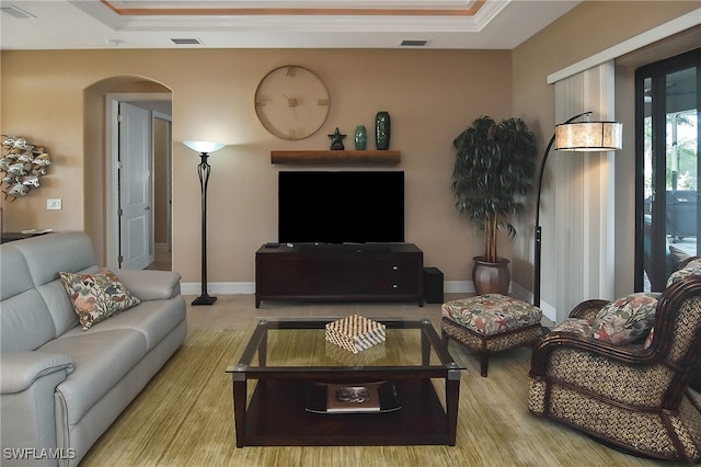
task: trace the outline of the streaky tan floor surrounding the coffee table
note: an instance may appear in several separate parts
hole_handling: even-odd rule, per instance
[[[447,295],[446,300],[456,296]],[[188,304],[194,296],[186,297]],[[309,305],[219,296],[212,306],[187,307],[185,344],[83,458],[92,466],[673,466],[606,447],[579,432],[528,411],[530,349],[492,356],[490,375],[478,357],[450,343],[464,363],[457,445],[235,447],[230,375],[225,368],[260,318],[367,317],[440,319],[440,305]],[[437,324],[436,324],[437,327]],[[439,329],[437,327],[437,329]],[[440,384],[440,383],[438,383]]]

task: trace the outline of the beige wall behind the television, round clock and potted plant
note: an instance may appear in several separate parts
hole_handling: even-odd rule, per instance
[[[54,161],[39,190],[2,202],[3,228],[85,229],[104,251],[102,96],[125,90],[122,80],[153,81],[173,96],[173,267],[184,282],[199,280],[199,185],[198,157],[182,140],[230,145],[210,158],[209,281],[252,282],[254,251],[276,239],[276,173],[284,167],[271,164],[269,151],[326,149],[326,135],[336,126],[349,135],[349,147],[355,126],[371,128],[379,110],[392,116],[391,148],[402,151],[398,169],[406,172],[406,241],[417,243],[425,264],[441,269],[447,281],[469,281],[471,258],[482,253],[482,239],[453,207],[455,136],[480,115],[515,115],[544,148],[555,124],[549,73],[697,4],[587,1],[513,52],[3,52],[1,130],[45,145]],[[314,70],[331,93],[326,124],[301,141],[272,137],[253,110],[261,78],[286,64]],[[46,210],[49,197],[62,198],[64,209]],[[513,281],[530,288],[532,206],[515,221],[519,236],[514,243],[504,239],[501,253],[513,258]]]

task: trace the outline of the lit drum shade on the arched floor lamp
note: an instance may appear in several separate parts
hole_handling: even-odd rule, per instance
[[[623,147],[623,124],[577,122],[555,126],[555,149],[564,151],[616,151]]]

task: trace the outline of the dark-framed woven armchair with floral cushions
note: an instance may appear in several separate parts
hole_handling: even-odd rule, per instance
[[[533,350],[530,411],[617,449],[701,462],[701,396],[689,389],[701,368],[701,258],[658,297],[588,300],[570,317]]]

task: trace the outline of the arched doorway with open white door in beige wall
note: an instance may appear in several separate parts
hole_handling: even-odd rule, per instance
[[[94,83],[84,95],[84,192],[90,194],[84,225],[101,263],[143,269],[158,250],[159,267],[170,269],[171,91],[142,77],[114,77]],[[135,114],[138,118],[125,118]],[[135,206],[143,215],[127,220]]]

